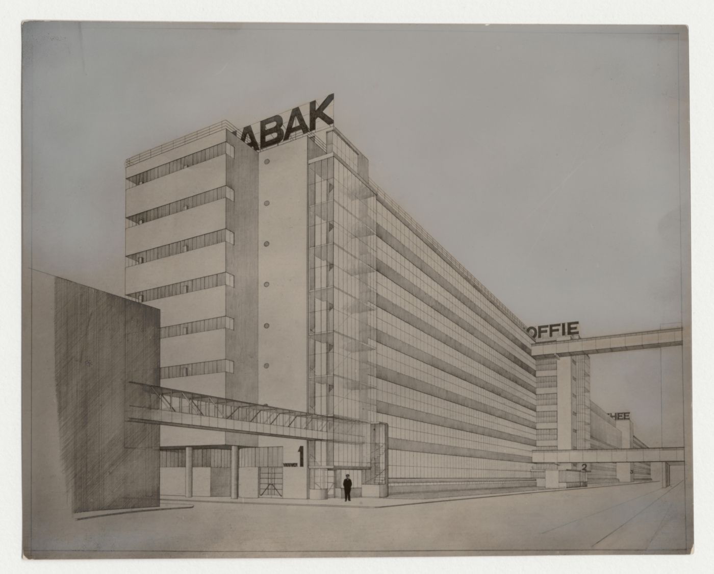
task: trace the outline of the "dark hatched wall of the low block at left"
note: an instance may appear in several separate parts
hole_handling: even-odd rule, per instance
[[[124,420],[124,383],[159,385],[159,310],[61,278],[54,301],[59,438],[74,512],[158,506],[159,426]]]

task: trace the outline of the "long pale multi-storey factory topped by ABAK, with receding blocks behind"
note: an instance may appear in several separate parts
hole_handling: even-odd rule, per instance
[[[641,441],[590,401],[588,356],[534,358],[526,325],[371,181],[333,96],[126,160],[125,278],[161,310],[161,386],[372,433],[161,426],[162,494],[231,493],[231,446],[246,497],[340,496],[346,473],[353,495],[382,496],[526,490],[553,468],[560,486],[649,476],[533,464],[536,449]]]

